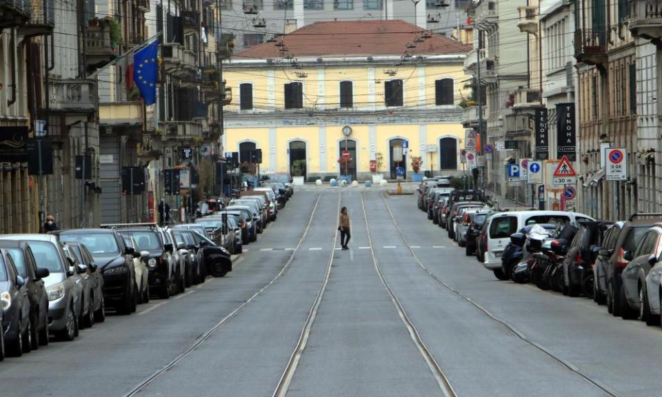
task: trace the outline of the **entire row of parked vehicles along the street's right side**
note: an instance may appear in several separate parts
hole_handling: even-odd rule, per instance
[[[600,221],[578,212],[499,210],[481,192],[425,179],[417,203],[499,280],[592,298],[623,319],[661,325],[662,214]]]

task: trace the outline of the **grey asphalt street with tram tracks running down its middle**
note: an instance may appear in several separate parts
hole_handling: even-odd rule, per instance
[[[659,327],[497,281],[412,196],[301,190],[245,248],[224,278],[6,358],[0,395],[662,394]]]

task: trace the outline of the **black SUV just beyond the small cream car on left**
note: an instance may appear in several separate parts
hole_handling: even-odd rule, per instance
[[[124,224],[115,227],[121,236],[131,236],[140,252],[148,252],[148,256],[143,260],[147,261],[150,292],[155,292],[164,299],[176,294],[181,275],[179,263],[173,256],[172,242],[164,240],[154,224]]]

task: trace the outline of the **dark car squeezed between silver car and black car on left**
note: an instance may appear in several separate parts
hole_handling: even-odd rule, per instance
[[[96,322],[103,323],[106,320],[106,303],[103,301],[103,275],[99,265],[94,262],[94,257],[88,247],[81,243],[68,243],[69,252],[76,256],[76,260],[80,268],[79,274],[86,279],[88,283],[88,294],[90,299],[88,301],[88,308],[90,312],[81,314],[83,319],[86,319],[84,326],[92,327]],[[147,277],[147,276],[145,276]]]

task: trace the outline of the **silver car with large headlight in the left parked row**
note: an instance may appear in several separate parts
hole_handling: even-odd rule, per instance
[[[82,279],[72,267],[52,234],[7,234],[3,240],[28,241],[37,266],[46,267],[50,275],[43,278],[48,294],[48,329],[63,340],[78,336],[81,313]]]

